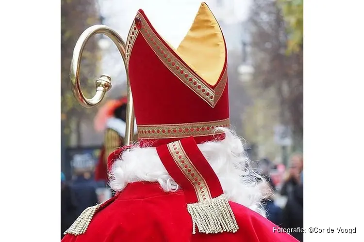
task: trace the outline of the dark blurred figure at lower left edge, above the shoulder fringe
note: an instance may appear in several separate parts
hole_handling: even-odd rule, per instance
[[[61,172],[61,239],[64,236],[63,233],[72,225],[77,216],[74,194],[66,183],[65,174]]]

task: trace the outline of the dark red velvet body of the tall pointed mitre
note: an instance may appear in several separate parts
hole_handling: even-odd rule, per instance
[[[139,10],[138,13],[144,16],[150,29],[167,46],[170,53],[180,59],[154,30],[144,12]],[[188,67],[187,64],[185,66]],[[229,118],[227,83],[215,107],[210,106],[168,69],[142,34],[138,34],[134,41],[128,69],[137,125],[181,124]],[[190,68],[189,70],[194,73]],[[205,84],[213,87],[208,83]],[[202,136],[197,142],[202,143],[213,138],[214,136]],[[143,139],[141,142],[158,146],[178,139],[180,138]]]

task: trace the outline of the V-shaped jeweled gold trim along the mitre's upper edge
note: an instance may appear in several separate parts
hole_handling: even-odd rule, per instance
[[[141,35],[144,37],[149,46],[153,49],[158,58],[165,64],[165,66],[177,76],[187,87],[198,94],[210,106],[214,107],[220,99],[222,92],[227,82],[227,68],[224,69],[221,79],[217,82],[215,89],[210,88],[199,76],[190,71],[190,69],[180,61],[175,54],[173,54],[158,38],[154,31],[150,28],[149,24],[139,14],[142,27],[140,30]],[[129,38],[129,36],[128,36]]]

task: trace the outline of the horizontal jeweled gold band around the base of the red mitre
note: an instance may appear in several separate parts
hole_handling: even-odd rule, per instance
[[[216,127],[228,128],[229,119],[211,122],[178,123],[165,125],[138,125],[139,138],[182,138],[222,134]]]

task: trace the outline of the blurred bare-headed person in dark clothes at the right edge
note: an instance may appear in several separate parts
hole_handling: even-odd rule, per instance
[[[283,181],[281,195],[289,197],[295,187],[301,183],[301,172],[303,171],[303,156],[299,153],[293,154],[290,159],[290,166]]]

